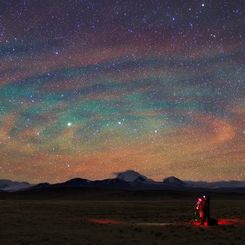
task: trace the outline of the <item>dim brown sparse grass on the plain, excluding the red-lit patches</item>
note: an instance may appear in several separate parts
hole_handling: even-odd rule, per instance
[[[187,222],[193,199],[162,201],[2,200],[0,244],[245,244],[245,226],[137,226]],[[245,219],[245,200],[212,200],[212,216]],[[106,218],[122,225],[99,225]]]

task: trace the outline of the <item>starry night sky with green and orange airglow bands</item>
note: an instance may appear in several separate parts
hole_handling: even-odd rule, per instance
[[[245,180],[245,1],[0,0],[0,178]]]

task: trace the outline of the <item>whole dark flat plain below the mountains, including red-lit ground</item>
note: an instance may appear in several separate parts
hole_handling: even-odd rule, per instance
[[[213,217],[239,222],[191,225],[195,193],[0,193],[0,244],[245,244],[244,195],[210,196]]]

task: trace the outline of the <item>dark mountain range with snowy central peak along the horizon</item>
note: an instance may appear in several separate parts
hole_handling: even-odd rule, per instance
[[[116,173],[116,177],[104,180],[87,180],[82,178],[70,179],[63,183],[49,184],[40,183],[30,185],[26,182],[14,182],[0,180],[0,191],[15,192],[23,190],[47,190],[47,189],[121,189],[121,190],[212,190],[212,191],[235,191],[245,193],[245,181],[220,181],[220,182],[195,182],[183,181],[174,176],[165,178],[162,182],[154,181],[134,171]]]

